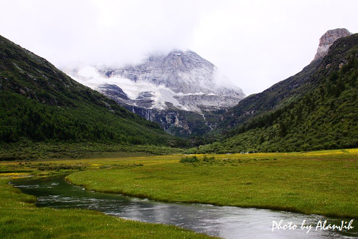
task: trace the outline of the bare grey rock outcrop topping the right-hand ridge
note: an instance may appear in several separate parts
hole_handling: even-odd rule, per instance
[[[320,38],[320,43],[317,48],[317,53],[313,59],[313,61],[323,58],[328,54],[328,49],[332,46],[333,42],[337,39],[346,37],[351,35],[352,33],[349,32],[346,28],[337,28],[333,30],[328,30],[325,34],[323,34]]]

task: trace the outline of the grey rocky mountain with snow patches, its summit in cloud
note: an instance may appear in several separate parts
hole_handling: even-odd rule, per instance
[[[183,127],[180,122],[186,120],[179,120],[178,114],[168,119],[169,113],[192,112],[208,126],[217,120],[208,123],[207,114],[225,111],[246,97],[216,66],[190,50],[152,55],[139,65],[124,68],[96,65],[64,72],[165,129]]]

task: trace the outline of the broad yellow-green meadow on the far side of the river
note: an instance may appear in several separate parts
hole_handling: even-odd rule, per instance
[[[358,218],[358,149],[214,156],[193,163],[175,155],[101,159],[102,169],[67,178],[89,190],[161,201]]]

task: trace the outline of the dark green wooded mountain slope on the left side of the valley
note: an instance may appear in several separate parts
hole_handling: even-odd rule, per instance
[[[0,142],[19,141],[183,142],[0,36]]]

